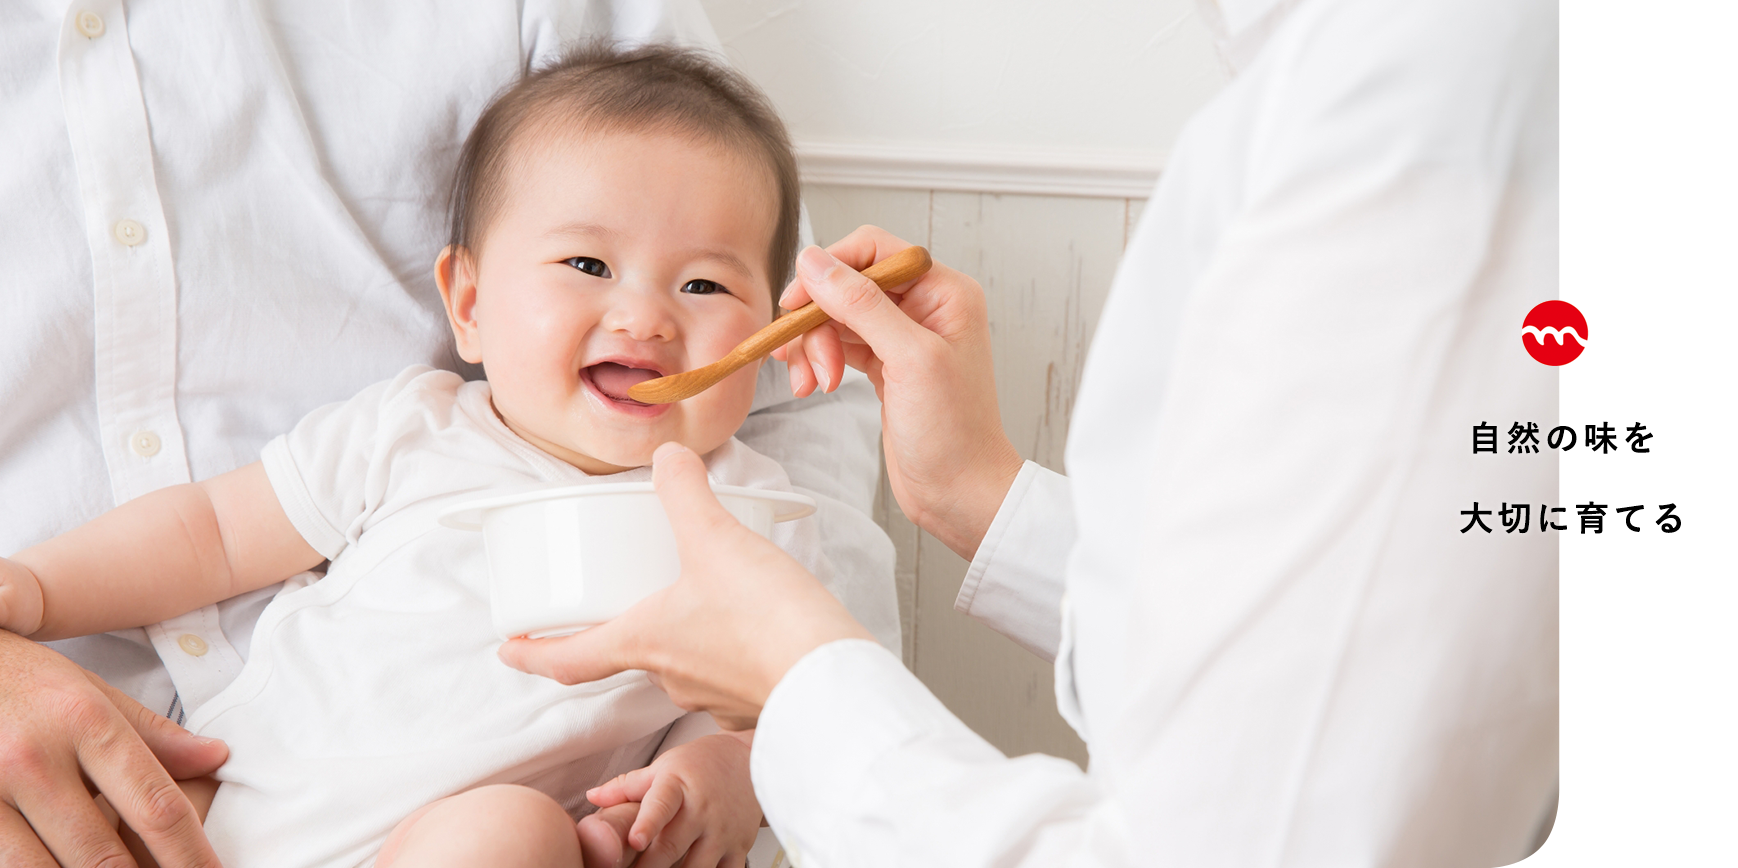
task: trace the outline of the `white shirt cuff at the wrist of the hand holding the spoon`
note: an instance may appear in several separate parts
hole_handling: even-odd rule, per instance
[[[1027,461],[972,558],[954,611],[1053,663],[1062,645],[1062,579],[1072,548],[1069,478]]]

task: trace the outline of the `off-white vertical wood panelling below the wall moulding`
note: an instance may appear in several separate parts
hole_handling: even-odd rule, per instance
[[[872,223],[984,284],[1003,426],[1022,456],[1065,470],[1081,364],[1144,202],[822,184],[803,198],[820,244]],[[1050,664],[952,611],[966,562],[905,520],[885,473],[876,520],[899,550],[905,666],[1005,753],[1085,765]]]

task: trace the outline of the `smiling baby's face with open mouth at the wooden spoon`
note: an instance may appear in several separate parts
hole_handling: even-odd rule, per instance
[[[657,132],[514,150],[474,263],[455,257],[441,292],[495,412],[587,473],[648,464],[667,440],[723,445],[749,412],[758,365],[678,404],[643,405],[627,388],[716,362],[772,320],[770,172]]]

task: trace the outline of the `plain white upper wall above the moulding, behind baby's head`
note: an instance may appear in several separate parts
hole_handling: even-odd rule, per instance
[[[1151,184],[1182,124],[1224,82],[1194,0],[702,5],[806,155],[1109,164],[1147,167]]]

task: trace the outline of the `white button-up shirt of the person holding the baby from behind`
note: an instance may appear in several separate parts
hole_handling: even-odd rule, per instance
[[[255,461],[405,365],[457,369],[431,275],[459,146],[527,64],[603,35],[718,45],[693,0],[12,3],[0,551]],[[763,409],[789,400],[773,367]],[[899,647],[878,433],[853,381],[740,437],[819,496],[827,555],[885,597]],[[56,647],[182,718],[240,671],[271,593]]]

